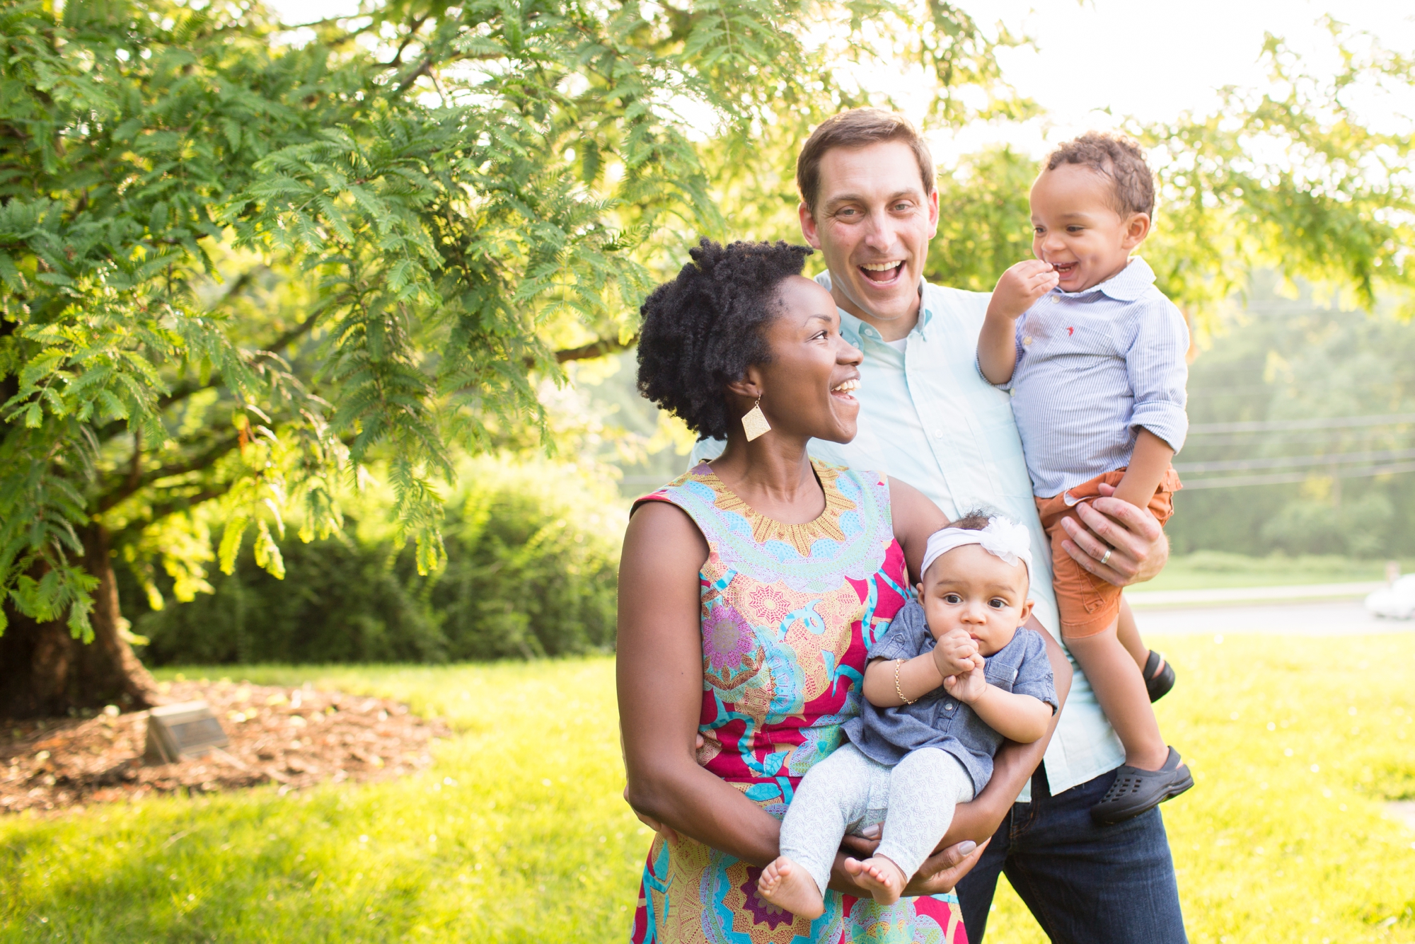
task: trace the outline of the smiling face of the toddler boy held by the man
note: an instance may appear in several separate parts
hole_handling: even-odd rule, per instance
[[[1081,164],[1044,170],[1032,185],[1032,252],[1051,263],[1063,292],[1119,275],[1149,222],[1145,214],[1115,212],[1109,178]]]

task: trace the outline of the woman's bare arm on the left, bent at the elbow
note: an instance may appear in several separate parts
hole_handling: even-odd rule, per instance
[[[698,573],[708,542],[675,505],[645,502],[620,559],[617,685],[628,804],[716,849],[764,866],[780,824],[698,766],[703,655]]]

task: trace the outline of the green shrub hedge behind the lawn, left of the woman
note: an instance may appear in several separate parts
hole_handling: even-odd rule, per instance
[[[345,535],[282,543],[286,576],[249,548],[215,590],[153,611],[123,606],[151,665],[449,662],[614,647],[624,507],[573,466],[470,464],[451,502],[447,565],[419,576],[412,548]]]

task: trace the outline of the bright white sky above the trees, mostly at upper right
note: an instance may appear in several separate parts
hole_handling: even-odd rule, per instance
[[[272,6],[287,21],[304,23],[352,11],[357,1],[273,0]],[[1170,120],[1183,110],[1210,112],[1218,102],[1215,89],[1265,84],[1258,62],[1264,33],[1285,37],[1305,54],[1327,52],[1330,40],[1317,21],[1329,13],[1377,34],[1388,48],[1415,54],[1412,0],[962,0],[962,6],[979,23],[1000,20],[1037,41],[1037,50],[1005,51],[1000,62],[1005,76],[1049,117],[1020,127],[931,134],[945,166],[951,154],[989,142],[1006,140],[1040,156],[1049,142],[1109,127],[1124,116]],[[1105,108],[1114,117],[1099,112]],[[1415,115],[1415,102],[1402,110]]]

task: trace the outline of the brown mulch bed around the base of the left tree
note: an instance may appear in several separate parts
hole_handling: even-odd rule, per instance
[[[146,764],[147,712],[0,719],[0,814],[59,811],[153,794],[216,793],[277,783],[389,780],[432,764],[449,729],[406,705],[313,688],[163,682],[168,703],[205,701],[231,746],[175,764]]]

